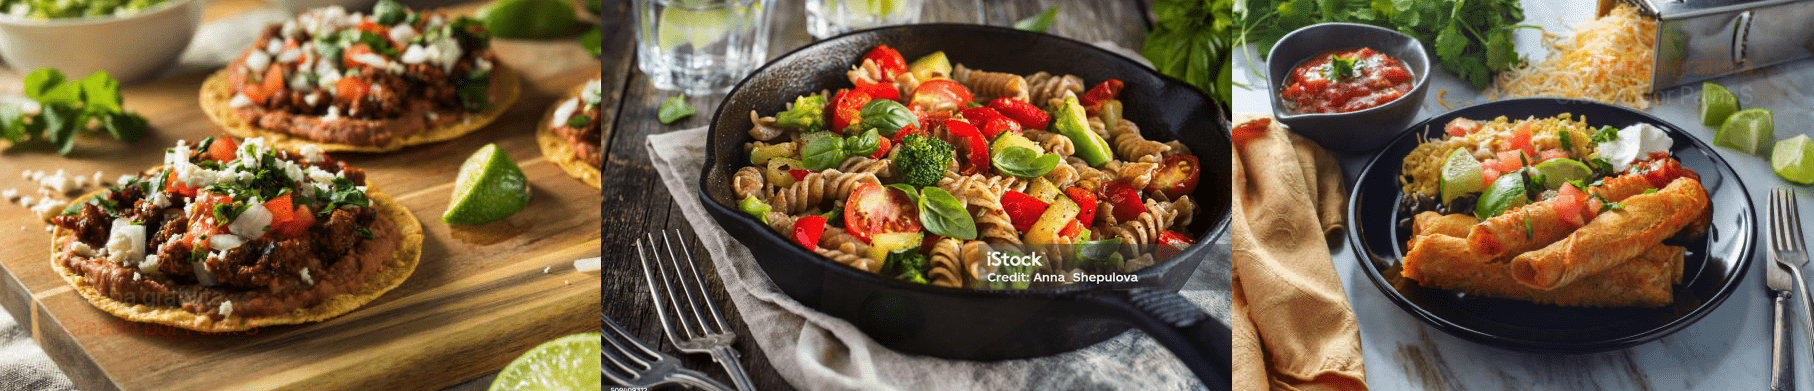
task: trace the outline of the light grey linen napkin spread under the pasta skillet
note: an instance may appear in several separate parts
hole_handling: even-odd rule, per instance
[[[1204,389],[1139,329],[1083,349],[1023,360],[972,362],[892,351],[856,326],[811,310],[775,286],[744,244],[700,206],[697,181],[706,161],[706,129],[655,134],[649,157],[698,241],[711,253],[756,346],[782,378],[800,389]],[[1204,243],[1210,259],[1181,291],[1210,315],[1228,320],[1228,243]]]

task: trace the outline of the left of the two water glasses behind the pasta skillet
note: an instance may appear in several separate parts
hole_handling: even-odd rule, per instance
[[[775,0],[635,0],[637,67],[655,89],[722,94],[769,58]]]

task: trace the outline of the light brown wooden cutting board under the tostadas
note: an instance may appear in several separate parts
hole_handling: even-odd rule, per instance
[[[0,306],[82,389],[439,389],[502,369],[544,340],[599,331],[599,273],[575,272],[573,261],[599,257],[600,196],[542,157],[535,123],[600,65],[573,40],[493,40],[493,47],[524,81],[522,98],[495,123],[394,154],[334,154],[363,167],[368,183],[423,221],[421,266],[377,300],[325,322],[229,335],[125,322],[76,295],[51,270],[45,223],[5,203]],[[158,165],[176,139],[221,134],[196,103],[205,76],[125,87],[127,109],[152,127],[138,143],[87,138],[58,156],[0,141],[0,190],[36,197],[38,185],[22,170],[100,170],[114,181]],[[18,91],[16,80],[4,83]],[[522,167],[530,206],[490,224],[441,223],[461,161],[486,143]]]

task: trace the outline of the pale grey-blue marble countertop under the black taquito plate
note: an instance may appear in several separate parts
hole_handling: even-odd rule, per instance
[[[1567,25],[1593,18],[1595,2],[1526,0],[1524,24],[1567,34]],[[1540,62],[1546,52],[1540,31],[1520,29],[1518,52]],[[1250,69],[1264,69],[1253,45],[1235,54],[1235,112],[1272,112],[1266,80]],[[1752,74],[1716,80],[1732,89],[1743,107],[1769,107],[1776,112],[1776,138],[1814,134],[1814,60],[1799,60]],[[1486,101],[1473,87],[1448,72],[1431,76],[1431,89],[1419,118],[1444,109],[1439,91],[1448,89],[1455,109]],[[1694,138],[1712,143],[1712,129],[1700,125],[1700,87],[1676,87],[1656,94],[1649,114],[1678,123]],[[1796,188],[1803,221],[1814,221],[1814,186],[1787,183],[1770,170],[1763,156],[1716,148],[1740,174],[1751,192],[1760,224],[1769,210],[1770,188]],[[1371,154],[1337,154],[1350,185]],[[1758,246],[1765,246],[1760,228]],[[1536,355],[1477,344],[1435,329],[1400,310],[1368,281],[1353,248],[1335,244],[1335,270],[1342,277],[1348,300],[1360,322],[1366,378],[1373,389],[1769,389],[1772,308],[1763,286],[1767,252],[1758,250],[1741,288],[1702,320],[1653,342],[1593,355]],[[1799,310],[1796,310],[1799,311]],[[1799,317],[1799,315],[1798,315]],[[1814,358],[1809,335],[1794,326],[1796,389],[1814,389]]]

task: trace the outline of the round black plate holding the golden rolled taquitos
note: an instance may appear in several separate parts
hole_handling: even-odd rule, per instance
[[[1685,243],[1683,282],[1674,288],[1676,302],[1663,308],[1558,308],[1522,300],[1468,297],[1429,290],[1399,277],[1408,232],[1399,221],[1399,168],[1419,138],[1440,138],[1442,125],[1455,118],[1493,119],[1507,116],[1547,118],[1585,116],[1591,127],[1627,127],[1651,123],[1674,138],[1671,152],[1682,165],[1700,172],[1712,201],[1712,226],[1705,239]],[[1732,167],[1711,147],[1654,116],[1624,107],[1555,98],[1502,100],[1464,107],[1411,125],[1397,141],[1366,165],[1350,199],[1348,239],[1360,257],[1368,281],[1404,311],[1451,335],[1522,351],[1593,353],[1660,339],[1711,313],[1738,290],[1751,264],[1756,223],[1751,197]]]

